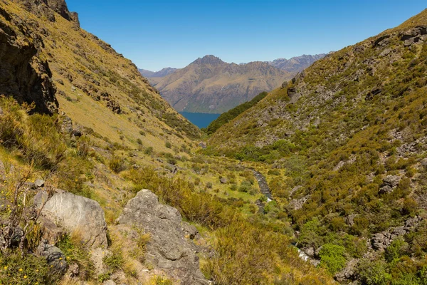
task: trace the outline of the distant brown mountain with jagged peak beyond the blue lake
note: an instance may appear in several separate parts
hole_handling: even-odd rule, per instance
[[[161,78],[154,86],[180,112],[223,113],[291,77],[268,63],[238,65],[204,56]]]

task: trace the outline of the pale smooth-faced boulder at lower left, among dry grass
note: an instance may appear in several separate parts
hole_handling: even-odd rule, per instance
[[[41,207],[46,199],[47,192],[41,191],[36,195],[35,202]],[[69,234],[79,234],[84,244],[90,247],[107,247],[104,211],[93,199],[57,190],[48,199],[41,214]]]

